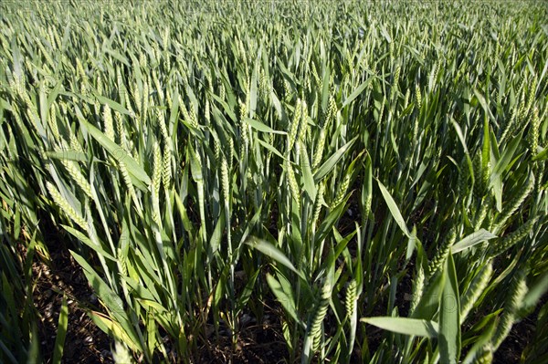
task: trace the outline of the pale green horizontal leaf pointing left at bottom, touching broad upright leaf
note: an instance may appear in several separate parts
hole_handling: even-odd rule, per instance
[[[437,322],[407,317],[363,317],[360,321],[398,334],[437,338]]]

